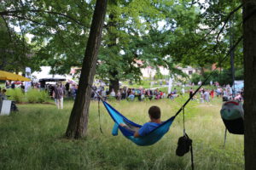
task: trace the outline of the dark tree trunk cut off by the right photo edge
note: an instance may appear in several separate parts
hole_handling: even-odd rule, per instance
[[[245,169],[256,169],[256,0],[243,0]]]

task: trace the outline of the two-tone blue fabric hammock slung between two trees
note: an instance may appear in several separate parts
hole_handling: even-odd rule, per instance
[[[105,101],[102,101],[102,102],[103,102],[103,105],[106,107],[108,114],[112,117],[113,121],[115,122],[113,126],[112,134],[114,136],[118,135],[118,130],[120,130],[121,133],[123,133],[123,135],[125,136],[125,138],[130,139],[132,142],[140,146],[151,145],[159,141],[169,131],[169,128],[176,117],[176,116],[172,116],[166,122],[161,123],[159,127],[154,128],[154,130],[152,130],[146,136],[134,138],[133,134],[135,133],[135,131],[133,131],[132,128],[133,129],[140,128],[142,127],[142,125],[139,125],[135,122],[131,122],[121,113],[119,113],[119,111],[116,111],[107,102]],[[121,127],[119,126],[120,123],[124,123],[131,128]]]

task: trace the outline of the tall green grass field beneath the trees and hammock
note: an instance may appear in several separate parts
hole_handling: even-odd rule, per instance
[[[162,118],[173,116],[184,99],[151,102],[111,102],[132,121],[148,121],[151,105],[159,105]],[[20,111],[0,116],[0,169],[191,169],[190,154],[175,155],[177,139],[183,135],[182,115],[177,116],[169,133],[152,146],[137,146],[121,134],[111,135],[113,121],[101,105],[99,130],[97,102],[91,102],[88,135],[67,140],[72,101],[64,110],[55,105],[18,105]],[[243,169],[243,136],[228,134],[223,149],[224,124],[219,116],[221,102],[211,105],[192,101],[186,108],[186,132],[193,139],[195,169]]]

